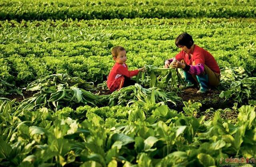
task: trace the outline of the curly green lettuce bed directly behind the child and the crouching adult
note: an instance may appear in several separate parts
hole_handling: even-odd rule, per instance
[[[212,41],[211,41],[212,40]],[[222,41],[221,41],[222,40]],[[254,45],[245,39],[195,39],[196,44],[214,55],[218,63],[242,66],[255,76]],[[224,43],[226,42],[226,43]],[[241,45],[244,43],[244,45]],[[133,69],[145,64],[160,67],[165,59],[174,57],[178,48],[169,41],[108,41],[77,43],[26,43],[0,45],[0,77],[20,84],[34,81],[40,76],[68,73],[86,81],[101,83],[106,80],[114,61],[110,48],[123,45],[128,51],[128,66]],[[236,48],[236,49],[234,49]],[[227,49],[227,51],[224,51]]]

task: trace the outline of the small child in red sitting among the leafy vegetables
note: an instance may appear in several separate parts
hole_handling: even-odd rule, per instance
[[[139,71],[144,71],[144,67],[137,70],[128,71],[128,66],[125,63],[127,57],[124,47],[114,47],[111,51],[111,54],[116,63],[108,75],[107,86],[109,90],[113,92],[115,90],[119,90],[122,87],[135,84],[136,82],[130,78],[138,75]]]

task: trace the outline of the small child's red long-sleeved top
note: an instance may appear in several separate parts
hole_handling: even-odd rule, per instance
[[[107,86],[111,92],[117,89],[119,90],[124,85],[124,76],[130,78],[138,75],[138,73],[138,70],[128,71],[128,66],[126,63],[115,63],[108,75]]]

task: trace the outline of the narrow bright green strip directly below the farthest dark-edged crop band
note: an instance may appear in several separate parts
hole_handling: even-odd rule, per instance
[[[111,20],[73,20],[71,18],[65,20],[22,20],[20,22],[16,20],[4,20],[0,21],[0,28],[12,28],[12,29],[31,29],[31,28],[58,28],[58,29],[125,29],[129,28],[168,28],[176,27],[183,28],[184,26],[189,28],[220,28],[225,26],[226,28],[253,28],[255,27],[255,18],[124,18],[111,19]],[[48,30],[46,29],[46,30]],[[8,30],[8,29],[6,29]],[[225,30],[225,29],[224,29]],[[246,33],[246,32],[244,32]]]

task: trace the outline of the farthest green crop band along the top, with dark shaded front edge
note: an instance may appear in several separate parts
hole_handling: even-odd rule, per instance
[[[238,6],[230,6],[230,1],[221,2],[202,1],[184,3],[182,0],[176,3],[166,3],[157,1],[159,4],[149,3],[148,1],[137,1],[137,3],[124,3],[124,5],[112,5],[116,2],[113,0],[111,5],[104,5],[95,2],[77,2],[75,0],[62,3],[62,1],[27,0],[24,2],[8,2],[5,0],[0,4],[0,20],[47,20],[47,19],[123,19],[123,18],[187,18],[187,17],[209,17],[209,18],[230,18],[244,17],[254,18],[256,16],[255,2],[236,2]],[[135,1],[136,2],[136,1]],[[204,1],[203,1],[204,2]],[[232,2],[235,2],[232,0]],[[91,5],[88,5],[91,4]],[[94,5],[99,4],[99,5]],[[122,3],[119,3],[122,4]],[[145,4],[144,6],[137,4]],[[168,3],[167,3],[168,4]],[[191,4],[186,6],[184,4]],[[208,6],[212,4],[211,6]],[[240,8],[243,6],[243,8]]]

